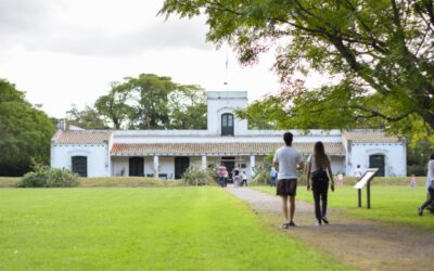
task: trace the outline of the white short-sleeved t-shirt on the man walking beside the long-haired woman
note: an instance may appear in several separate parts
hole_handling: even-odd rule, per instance
[[[297,179],[297,165],[303,164],[302,154],[292,146],[278,149],[272,162],[279,163],[278,180]]]

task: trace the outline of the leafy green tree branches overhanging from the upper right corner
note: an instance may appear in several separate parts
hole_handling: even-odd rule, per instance
[[[244,64],[277,46],[283,86],[296,70],[340,78],[286,92],[305,106],[298,115],[334,116],[330,127],[368,119],[401,129],[411,118],[434,127],[432,0],[166,0],[161,14],[205,14],[207,39],[227,41]]]

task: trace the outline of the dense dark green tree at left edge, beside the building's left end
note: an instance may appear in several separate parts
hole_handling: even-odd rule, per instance
[[[0,79],[0,176],[23,176],[33,163],[48,164],[55,127],[24,92]]]

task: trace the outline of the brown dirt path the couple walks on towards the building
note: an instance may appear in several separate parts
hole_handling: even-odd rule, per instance
[[[227,190],[256,214],[282,217],[278,196],[247,188]],[[361,270],[434,270],[434,231],[348,218],[336,209],[329,209],[328,217],[330,224],[316,227],[314,206],[296,202],[297,227],[281,231]],[[281,219],[273,221],[279,228]]]

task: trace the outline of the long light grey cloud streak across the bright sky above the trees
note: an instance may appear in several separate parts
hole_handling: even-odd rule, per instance
[[[110,35],[98,31],[81,31],[59,35],[39,42],[28,42],[33,50],[48,49],[77,55],[132,55],[148,50],[191,48],[212,50],[205,43],[206,31],[190,22],[154,25],[144,29]]]

